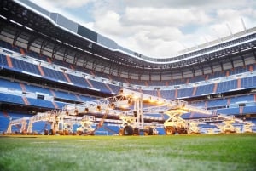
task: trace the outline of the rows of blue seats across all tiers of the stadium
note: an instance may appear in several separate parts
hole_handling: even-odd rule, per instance
[[[226,44],[228,46],[228,44]],[[41,76],[54,82],[67,83],[73,85],[74,88],[95,89],[104,94],[118,94],[122,85],[141,86],[136,89],[138,92],[149,94],[152,96],[162,97],[168,100],[185,99],[189,97],[201,97],[211,94],[223,94],[232,92],[237,89],[256,88],[256,76],[253,71],[256,71],[256,65],[250,64],[247,66],[239,66],[232,70],[215,71],[211,74],[200,75],[195,77],[185,77],[183,79],[170,79],[165,81],[144,81],[136,79],[121,78],[110,76],[99,71],[90,71],[81,66],[75,66],[67,62],[52,59],[44,54],[38,54],[33,51],[26,51],[24,48],[13,46],[10,43],[0,41],[0,47],[9,49],[10,51],[0,54],[0,66],[10,71],[17,71],[24,74],[32,74]],[[212,47],[218,49],[219,46]],[[200,54],[204,52],[198,51],[192,53]],[[20,54],[13,55],[12,53]],[[8,55],[7,55],[8,54]],[[192,54],[186,54],[187,56]],[[35,62],[36,61],[36,62]],[[38,64],[40,61],[40,65]],[[43,64],[44,65],[41,65]],[[61,69],[62,68],[62,69]],[[67,70],[68,71],[67,71]],[[247,73],[247,74],[244,74]],[[244,74],[241,77],[241,74]],[[90,77],[86,77],[90,75]],[[106,80],[108,80],[106,82]],[[61,100],[72,100],[73,102],[83,102],[96,100],[96,98],[86,96],[85,94],[77,94],[56,88],[44,88],[41,85],[32,85],[31,83],[19,83],[0,79],[0,101],[10,104],[31,105],[39,108],[61,109],[67,102]],[[3,92],[8,89],[9,92]],[[133,89],[134,90],[134,89]],[[11,92],[18,92],[18,94]],[[30,94],[30,96],[26,96]],[[42,99],[32,94],[45,96]],[[47,97],[47,98],[46,98]],[[246,115],[256,111],[255,94],[241,94],[226,98],[214,98],[200,101],[192,101],[191,105],[217,110],[217,113],[226,115]],[[245,104],[245,105],[241,105]],[[15,115],[13,116],[15,117]],[[21,115],[18,114],[18,117]],[[183,118],[205,117],[198,113],[187,113]],[[8,117],[3,114],[0,116],[0,131],[7,127]],[[35,130],[40,132],[40,128],[46,128],[46,123],[37,123]],[[108,134],[117,134],[119,128],[116,126],[105,126],[98,130],[99,134],[105,131]]]

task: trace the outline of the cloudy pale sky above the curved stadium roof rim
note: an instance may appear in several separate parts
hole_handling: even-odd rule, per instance
[[[31,0],[154,58],[256,26],[255,0]]]

